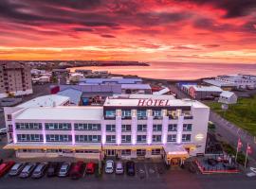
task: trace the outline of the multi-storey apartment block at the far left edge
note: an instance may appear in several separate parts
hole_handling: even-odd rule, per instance
[[[0,62],[0,97],[32,93],[30,67],[26,63]]]

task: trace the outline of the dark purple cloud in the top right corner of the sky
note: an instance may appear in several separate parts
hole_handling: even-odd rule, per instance
[[[255,0],[175,0],[177,2],[194,3],[197,5],[210,5],[217,9],[227,11],[226,18],[246,16],[256,9]]]

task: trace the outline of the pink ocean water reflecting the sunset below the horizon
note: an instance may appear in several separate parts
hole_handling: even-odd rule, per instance
[[[218,75],[256,75],[256,64],[151,62],[150,66],[85,66],[75,69],[106,70],[112,74],[160,79],[196,79]]]

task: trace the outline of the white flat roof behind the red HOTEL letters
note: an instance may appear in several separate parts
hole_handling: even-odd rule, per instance
[[[145,99],[145,98],[143,98]],[[150,99],[150,98],[149,98]],[[104,107],[138,107],[139,100],[141,99],[120,99],[120,98],[113,98],[107,97],[104,103]],[[147,100],[147,99],[145,99]],[[155,99],[153,99],[155,100]],[[162,99],[161,99],[162,100]],[[192,100],[192,99],[166,99],[168,100],[168,107],[188,107],[192,106],[195,108],[208,108],[208,106],[204,105],[203,103]],[[166,103],[166,102],[164,102]],[[153,103],[154,104],[154,103]],[[154,106],[154,105],[153,105]],[[143,107],[143,106],[141,106]],[[144,106],[150,107],[150,106]]]

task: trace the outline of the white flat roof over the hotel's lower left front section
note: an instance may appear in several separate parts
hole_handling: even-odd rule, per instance
[[[102,107],[37,107],[28,108],[17,115],[16,120],[101,120]]]

